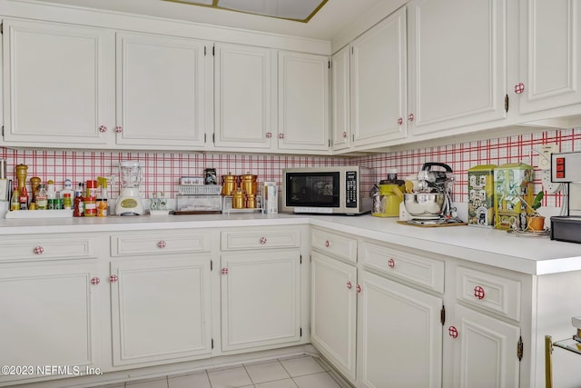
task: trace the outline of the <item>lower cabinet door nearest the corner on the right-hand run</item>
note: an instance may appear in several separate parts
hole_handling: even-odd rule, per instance
[[[355,381],[357,268],[311,253],[310,340],[340,373]]]

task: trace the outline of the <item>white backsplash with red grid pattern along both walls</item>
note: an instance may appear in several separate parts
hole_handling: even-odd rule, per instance
[[[257,174],[259,182],[275,181],[281,184],[284,167],[310,167],[359,164],[374,167],[379,179],[387,177],[390,168],[396,168],[399,177],[417,174],[425,162],[449,164],[456,175],[454,201],[468,201],[468,169],[478,164],[506,164],[524,162],[535,167],[535,192],[541,190],[536,152],[542,144],[556,143],[561,152],[581,151],[581,128],[517,135],[478,142],[434,146],[373,154],[355,158],[278,155],[278,154],[197,154],[155,152],[100,152],[71,150],[28,150],[0,147],[0,158],[6,159],[8,177],[13,178],[16,164],[28,165],[28,180],[40,177],[43,182],[53,179],[60,190],[64,179],[74,185],[97,176],[119,175],[118,165],[123,160],[137,160],[143,167],[142,191],[145,197],[153,192],[176,194],[181,176],[202,175],[206,167],[222,174]],[[581,167],[580,167],[581,168]],[[110,195],[119,194],[119,184],[110,188]],[[561,205],[560,194],[547,195],[546,206]]]

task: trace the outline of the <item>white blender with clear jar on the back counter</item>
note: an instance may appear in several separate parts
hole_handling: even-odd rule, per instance
[[[117,198],[115,214],[142,215],[143,204],[139,194],[142,183],[142,165],[139,162],[123,161],[119,163],[121,176],[121,194]]]

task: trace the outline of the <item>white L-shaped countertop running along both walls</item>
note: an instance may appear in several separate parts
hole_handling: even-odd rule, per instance
[[[371,215],[200,214],[0,219],[0,235],[311,224],[525,274],[581,270],[581,244],[473,226],[417,227]]]

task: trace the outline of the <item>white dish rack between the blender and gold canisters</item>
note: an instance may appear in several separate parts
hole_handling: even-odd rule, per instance
[[[174,214],[222,213],[222,185],[180,184],[177,191]]]

